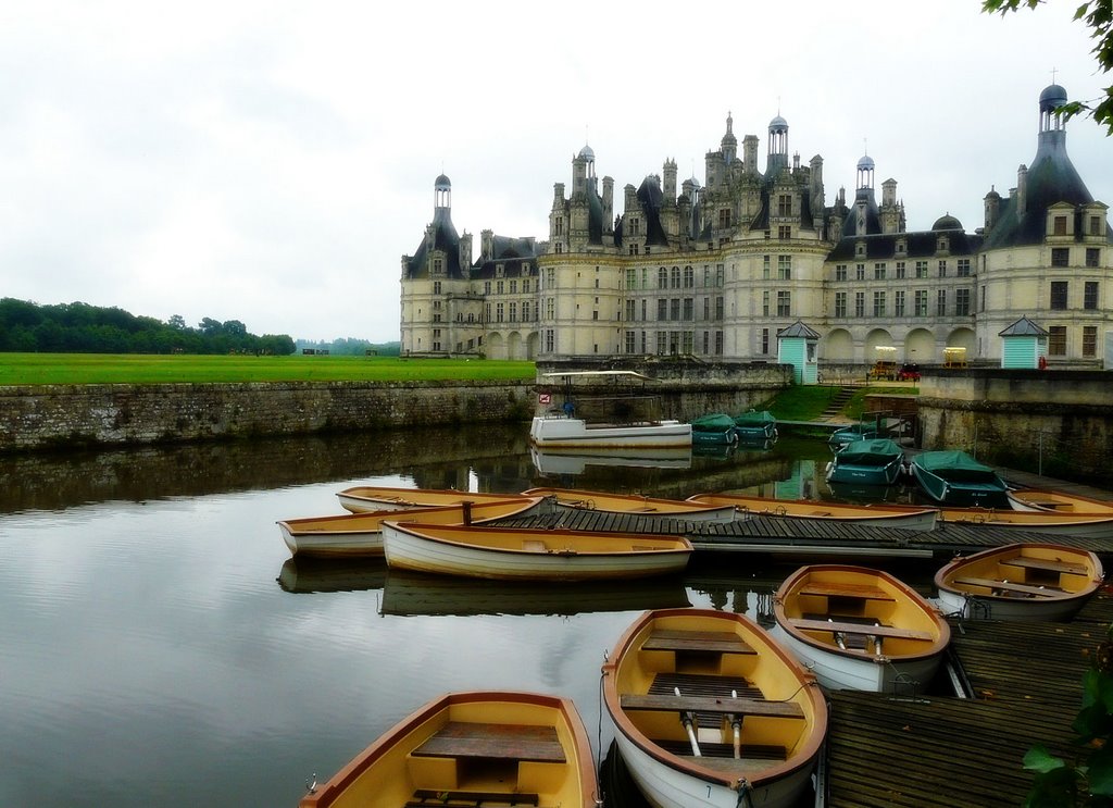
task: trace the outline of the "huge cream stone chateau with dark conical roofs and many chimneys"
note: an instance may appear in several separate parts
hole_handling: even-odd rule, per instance
[[[452,184],[436,178],[433,221],[402,258],[404,354],[492,358],[695,355],[771,361],[779,331],[819,334],[820,362],[942,363],[962,347],[996,364],[1001,332],[1028,317],[1047,332],[1047,359],[1097,365],[1113,331],[1113,237],[1066,152],[1058,85],[1040,96],[1036,154],[1007,197],[985,195],[974,233],[952,216],[905,228],[897,183],[857,166],[853,199],[826,198],[824,161],[789,156],[788,122],[769,122],[739,150],[733,120],[705,158],[705,184],[678,188],[677,165],[622,188],[595,174],[584,146],[571,187],[556,183],[546,240],[472,236],[452,223]]]

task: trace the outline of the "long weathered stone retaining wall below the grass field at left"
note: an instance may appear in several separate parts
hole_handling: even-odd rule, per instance
[[[0,387],[0,452],[525,420],[532,393],[504,382]]]

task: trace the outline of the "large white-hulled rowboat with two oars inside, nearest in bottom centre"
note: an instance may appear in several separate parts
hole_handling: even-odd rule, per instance
[[[743,614],[642,614],[603,666],[630,776],[658,808],[797,805],[827,732],[815,678]]]

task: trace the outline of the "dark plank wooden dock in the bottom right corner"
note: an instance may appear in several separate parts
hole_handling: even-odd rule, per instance
[[[1070,623],[953,622],[967,698],[833,691],[825,805],[1022,805],[1032,746],[1075,759],[1083,676],[1111,623],[1109,589]]]

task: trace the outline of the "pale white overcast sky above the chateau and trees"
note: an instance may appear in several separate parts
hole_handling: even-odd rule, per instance
[[[973,231],[1052,70],[1077,99],[1113,80],[1074,7],[0,0],[0,296],[397,339],[439,174],[477,255],[482,229],[548,237],[584,142],[617,208],[667,158],[702,184],[728,112],[764,168],[779,111],[828,205],[868,151],[909,229]],[[1077,119],[1067,147],[1113,204],[1113,138]]]

